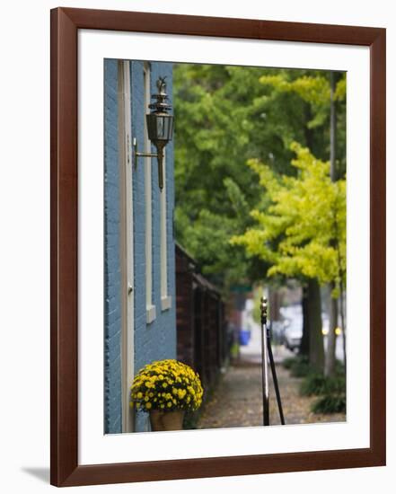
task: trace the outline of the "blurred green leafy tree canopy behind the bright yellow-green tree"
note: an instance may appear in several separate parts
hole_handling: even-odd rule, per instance
[[[320,71],[174,67],[176,238],[217,284],[264,278],[268,263],[229,243],[252,225],[249,211],[261,201],[245,163],[256,157],[293,176],[294,140],[325,155],[329,91]]]

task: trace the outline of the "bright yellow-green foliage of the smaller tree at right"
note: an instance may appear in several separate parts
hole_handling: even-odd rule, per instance
[[[330,163],[317,160],[309,149],[293,143],[292,150],[296,177],[277,175],[258,160],[248,162],[260,176],[269,206],[251,211],[257,226],[232,243],[270,262],[268,276],[339,283],[346,271],[346,181],[331,181]]]

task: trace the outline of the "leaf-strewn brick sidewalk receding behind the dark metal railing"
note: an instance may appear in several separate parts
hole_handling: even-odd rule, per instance
[[[198,428],[236,428],[262,425],[260,326],[253,328],[250,344],[241,348],[240,360],[221,377],[213,398],[205,405]],[[345,421],[343,414],[316,415],[310,410],[315,397],[300,396],[302,379],[291,377],[282,366],[293,354],[284,347],[273,348],[277,380],[286,424]],[[277,401],[270,376],[269,419],[280,424]]]

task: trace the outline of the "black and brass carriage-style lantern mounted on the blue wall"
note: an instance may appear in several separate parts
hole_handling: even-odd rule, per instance
[[[173,134],[173,115],[168,113],[169,110],[172,110],[172,105],[167,102],[168,95],[166,94],[165,79],[166,77],[158,79],[158,93],[152,95],[152,98],[156,101],[148,105],[151,113],[145,116],[148,138],[156,147],[157,153],[138,153],[136,138],[133,140],[135,165],[139,156],[157,158],[160,190],[163,190],[163,148],[172,140]]]

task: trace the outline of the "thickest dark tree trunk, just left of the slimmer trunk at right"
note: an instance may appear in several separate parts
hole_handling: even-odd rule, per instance
[[[308,319],[310,325],[310,365],[323,372],[324,348],[321,334],[321,289],[316,278],[308,280]]]

